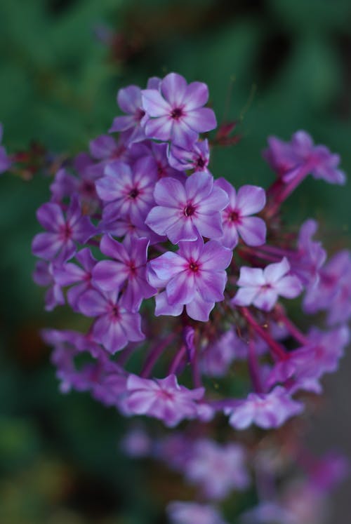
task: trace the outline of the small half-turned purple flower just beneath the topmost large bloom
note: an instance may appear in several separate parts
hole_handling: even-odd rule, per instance
[[[210,161],[208,140],[195,142],[190,150],[171,144],[168,161],[170,166],[180,171],[193,169],[208,173],[207,166]]]

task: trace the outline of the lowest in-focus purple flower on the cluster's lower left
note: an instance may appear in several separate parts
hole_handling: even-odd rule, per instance
[[[78,307],[84,315],[98,317],[93,324],[94,340],[112,354],[123,349],[129,341],[139,342],[145,338],[140,315],[121,307],[118,290],[103,294],[88,290],[81,295]]]

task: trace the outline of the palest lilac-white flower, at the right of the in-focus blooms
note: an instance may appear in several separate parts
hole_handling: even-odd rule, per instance
[[[300,295],[302,285],[297,276],[288,275],[289,262],[284,257],[282,262],[269,264],[265,269],[241,267],[237,285],[241,288],[232,299],[235,306],[253,304],[258,309],[270,311],[278,296],[295,298]]]

